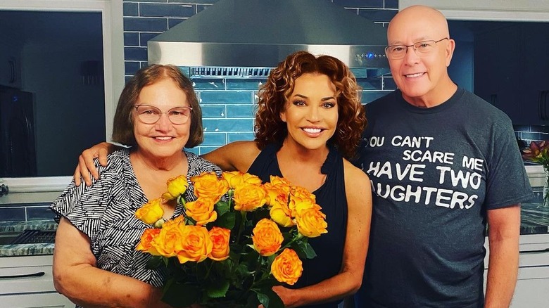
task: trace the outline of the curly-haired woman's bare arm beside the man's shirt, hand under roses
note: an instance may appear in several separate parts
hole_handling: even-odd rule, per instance
[[[370,179],[351,162],[343,162],[348,217],[341,270],[336,276],[305,288],[274,287],[286,307],[342,300],[355,293],[362,283],[372,217]]]

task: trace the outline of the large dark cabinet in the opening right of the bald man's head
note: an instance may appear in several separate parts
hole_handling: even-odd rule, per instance
[[[505,23],[478,34],[474,92],[513,124],[549,124],[549,23]]]

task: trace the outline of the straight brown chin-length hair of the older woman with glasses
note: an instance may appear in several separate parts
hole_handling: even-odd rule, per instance
[[[137,146],[134,136],[134,119],[132,113],[135,102],[145,86],[154,84],[161,79],[172,79],[187,95],[187,101],[191,105],[191,127],[189,140],[185,148],[198,146],[204,140],[202,129],[202,110],[198,105],[198,98],[194,93],[191,80],[175,65],[150,65],[137,71],[132,79],[127,82],[120,94],[113,124],[113,141],[125,144],[127,146]]]

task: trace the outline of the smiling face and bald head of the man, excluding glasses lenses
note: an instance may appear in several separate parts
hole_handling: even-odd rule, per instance
[[[438,41],[450,37],[444,16],[425,6],[411,6],[400,11],[387,30],[389,46],[412,45],[418,41]],[[453,39],[436,43],[434,51],[417,56],[412,46],[402,59],[389,59],[391,73],[403,97],[413,105],[431,107],[443,103],[455,91],[455,84],[448,77],[455,47]]]

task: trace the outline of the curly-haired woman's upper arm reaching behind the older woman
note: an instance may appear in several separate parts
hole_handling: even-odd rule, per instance
[[[201,156],[223,171],[247,172],[260,152],[255,141],[234,141]]]

